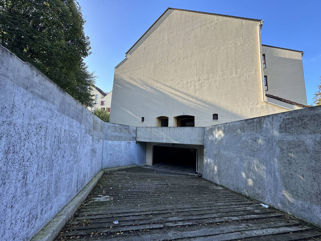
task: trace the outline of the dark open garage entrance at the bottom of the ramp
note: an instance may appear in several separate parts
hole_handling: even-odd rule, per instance
[[[197,171],[197,149],[185,145],[180,147],[169,145],[153,146],[153,166],[186,172]]]

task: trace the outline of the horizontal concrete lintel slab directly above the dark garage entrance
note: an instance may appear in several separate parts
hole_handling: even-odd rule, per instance
[[[137,141],[204,145],[204,127],[137,127]]]

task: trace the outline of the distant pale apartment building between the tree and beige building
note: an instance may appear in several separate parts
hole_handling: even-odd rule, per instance
[[[94,104],[93,107],[87,107],[88,110],[94,111],[97,108],[106,110],[110,112],[110,103],[111,103],[111,96],[112,92],[104,92],[97,86],[93,86],[91,94],[94,95],[92,103]]]

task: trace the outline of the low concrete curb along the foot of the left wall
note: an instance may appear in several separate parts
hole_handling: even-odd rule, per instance
[[[83,201],[85,201],[105,172],[113,172],[144,165],[145,164],[120,166],[100,170],[100,172],[94,176],[94,178],[92,178],[91,181],[61,211],[59,211],[53,219],[51,219],[35,236],[33,236],[30,241],[55,240],[59,232],[74,216],[75,212],[82,205]]]

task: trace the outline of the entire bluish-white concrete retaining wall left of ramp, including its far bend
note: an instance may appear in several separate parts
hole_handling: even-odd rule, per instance
[[[135,128],[101,121],[1,45],[0,89],[1,240],[30,240],[102,161],[103,168],[144,162]]]

